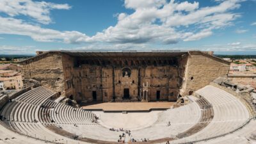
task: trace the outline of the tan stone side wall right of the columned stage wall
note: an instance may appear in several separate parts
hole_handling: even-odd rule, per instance
[[[204,52],[189,52],[180,95],[189,95],[220,76],[226,76],[229,62]]]

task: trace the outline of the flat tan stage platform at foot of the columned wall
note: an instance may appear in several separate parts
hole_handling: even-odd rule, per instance
[[[147,112],[153,110],[169,109],[175,102],[104,102],[100,104],[91,104],[82,106],[88,111],[104,112]]]

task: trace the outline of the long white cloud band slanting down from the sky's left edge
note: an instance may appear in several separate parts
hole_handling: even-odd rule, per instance
[[[77,31],[56,31],[27,24],[19,19],[0,17],[0,33],[31,36],[39,42],[63,41],[66,43],[89,42],[88,36]]]

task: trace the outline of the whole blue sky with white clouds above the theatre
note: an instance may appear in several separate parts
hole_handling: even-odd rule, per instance
[[[0,2],[0,54],[49,50],[256,54],[255,0]]]

